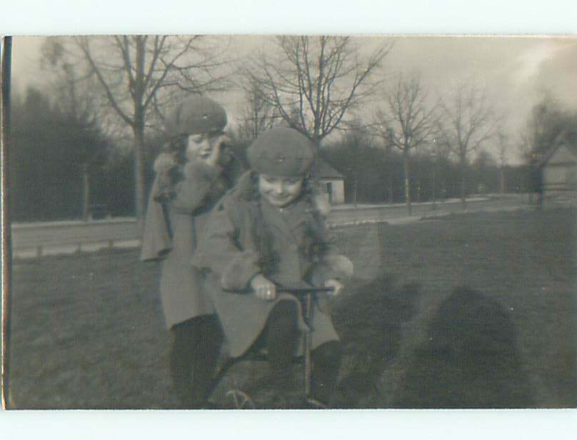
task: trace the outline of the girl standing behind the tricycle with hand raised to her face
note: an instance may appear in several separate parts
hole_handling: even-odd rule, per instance
[[[186,99],[169,121],[172,138],[154,164],[141,259],[161,259],[171,379],[180,407],[194,409],[208,397],[221,331],[190,262],[209,211],[231,186],[231,161],[222,151],[226,113],[215,101]]]

